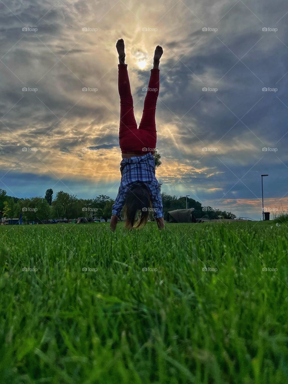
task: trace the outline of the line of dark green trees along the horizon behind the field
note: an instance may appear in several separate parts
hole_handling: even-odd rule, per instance
[[[163,202],[164,219],[168,212],[174,209],[186,208],[186,197],[161,193]],[[78,217],[98,217],[106,221],[111,217],[114,199],[107,195],[99,195],[94,199],[79,199],[76,195],[59,191],[53,199],[53,190],[47,189],[45,197],[36,196],[30,198],[17,198],[8,196],[7,192],[0,189],[0,211],[3,217],[20,218],[22,214],[23,222],[41,220],[63,219],[68,220]],[[194,208],[195,218],[236,218],[232,212],[221,211],[212,207],[203,207],[202,204],[194,199],[187,198],[188,208]]]

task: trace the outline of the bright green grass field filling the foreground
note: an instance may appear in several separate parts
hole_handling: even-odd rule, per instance
[[[0,240],[1,382],[288,382],[284,224],[1,226]]]

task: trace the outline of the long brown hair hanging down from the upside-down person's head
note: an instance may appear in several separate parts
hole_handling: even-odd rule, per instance
[[[125,227],[127,229],[141,228],[146,225],[151,207],[151,195],[149,189],[144,183],[139,183],[129,190],[125,202]],[[141,211],[141,217],[135,223],[135,217],[138,211]]]

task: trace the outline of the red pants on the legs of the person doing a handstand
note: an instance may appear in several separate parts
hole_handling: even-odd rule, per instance
[[[143,154],[154,152],[156,147],[156,102],[159,94],[159,69],[152,69],[144,101],[142,119],[137,128],[127,64],[118,64],[120,96],[119,144],[122,153]]]

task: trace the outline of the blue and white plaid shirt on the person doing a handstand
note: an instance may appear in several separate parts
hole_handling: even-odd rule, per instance
[[[135,156],[123,159],[120,163],[121,183],[112,215],[121,218],[122,207],[125,204],[127,193],[137,182],[144,182],[151,194],[154,218],[163,217],[163,205],[159,184],[155,177],[155,160],[151,152],[145,156]]]

